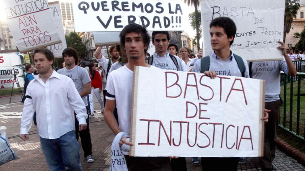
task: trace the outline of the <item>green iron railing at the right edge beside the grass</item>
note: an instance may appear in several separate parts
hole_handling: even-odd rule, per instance
[[[305,141],[305,73],[298,72],[295,77],[281,73],[283,107],[279,117],[279,127]],[[297,85],[295,86],[295,82]],[[290,84],[290,85],[289,85]],[[289,89],[287,91],[287,89]],[[301,90],[303,93],[301,93]],[[294,97],[294,96],[297,97]],[[296,106],[295,100],[297,98]],[[287,107],[289,106],[289,115]],[[295,108],[296,107],[296,108]],[[302,110],[301,110],[302,109]],[[287,120],[289,118],[289,121]]]

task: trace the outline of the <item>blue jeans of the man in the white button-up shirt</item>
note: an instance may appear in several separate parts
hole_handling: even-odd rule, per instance
[[[40,146],[51,171],[66,171],[64,163],[71,171],[82,170],[79,162],[79,145],[74,131],[69,131],[57,139],[40,137]]]

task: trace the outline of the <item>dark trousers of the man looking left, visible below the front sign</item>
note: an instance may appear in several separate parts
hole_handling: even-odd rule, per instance
[[[202,170],[237,170],[239,157],[201,157]]]

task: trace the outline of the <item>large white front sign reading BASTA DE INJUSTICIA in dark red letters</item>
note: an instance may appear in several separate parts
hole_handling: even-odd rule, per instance
[[[130,156],[263,155],[265,81],[135,67]]]

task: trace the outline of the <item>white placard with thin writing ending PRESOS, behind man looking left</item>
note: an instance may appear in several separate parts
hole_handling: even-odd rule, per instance
[[[233,53],[247,61],[282,60],[276,47],[283,41],[285,0],[205,0],[200,2],[203,50],[213,52],[210,22],[217,17],[231,18],[237,27]]]

